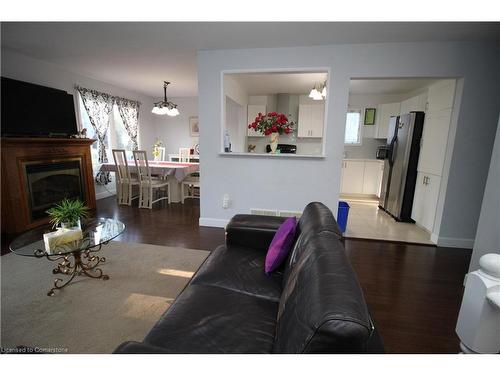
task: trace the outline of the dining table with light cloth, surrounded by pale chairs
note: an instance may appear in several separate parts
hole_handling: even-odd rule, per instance
[[[137,173],[137,167],[133,160],[128,160],[130,173]],[[199,171],[200,163],[181,163],[177,161],[156,161],[148,160],[151,175],[174,176],[181,182],[186,176]],[[115,163],[103,163],[100,167],[101,172],[116,172]]]

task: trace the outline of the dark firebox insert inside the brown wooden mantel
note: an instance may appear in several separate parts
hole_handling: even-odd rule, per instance
[[[64,198],[84,200],[80,159],[28,162],[24,171],[32,221],[46,217],[46,211]]]

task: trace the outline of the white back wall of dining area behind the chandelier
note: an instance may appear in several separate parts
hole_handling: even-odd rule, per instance
[[[160,100],[160,99],[158,99]],[[157,100],[157,101],[158,101]],[[193,147],[199,143],[199,137],[192,137],[189,134],[189,117],[198,116],[198,98],[169,98],[170,101],[177,104],[179,116],[159,116],[154,115],[154,130],[150,135],[153,144],[156,138],[160,138],[168,154],[178,154],[181,147]],[[151,153],[152,146],[146,149]]]

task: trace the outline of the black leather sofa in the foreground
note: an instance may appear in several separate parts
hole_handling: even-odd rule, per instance
[[[382,353],[331,211],[310,203],[286,263],[264,273],[283,218],[236,215],[148,333],[115,353]]]

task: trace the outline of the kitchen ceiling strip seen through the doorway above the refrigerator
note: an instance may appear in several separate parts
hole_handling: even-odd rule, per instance
[[[391,78],[391,79],[351,79],[350,94],[406,94],[423,89],[434,82],[436,78]]]

